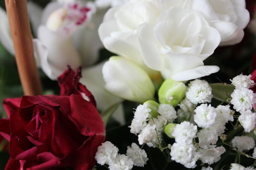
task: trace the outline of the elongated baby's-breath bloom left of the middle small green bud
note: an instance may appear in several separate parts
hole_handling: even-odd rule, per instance
[[[130,126],[132,134],[140,133],[147,125],[147,118],[150,117],[150,108],[145,105],[139,105],[134,112],[134,118]]]

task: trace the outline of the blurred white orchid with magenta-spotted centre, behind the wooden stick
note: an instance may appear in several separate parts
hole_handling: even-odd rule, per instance
[[[77,4],[77,2],[79,3]],[[77,11],[74,9],[69,11],[72,4],[73,7],[77,4]],[[97,99],[100,111],[122,101],[104,90],[104,80],[101,74],[102,64],[92,67],[92,64],[97,61],[99,49],[102,47],[97,28],[102,22],[104,10],[98,10],[95,13],[95,6],[86,1],[53,1],[44,9],[29,1],[28,8],[32,30],[38,38],[33,40],[36,63],[49,78],[56,80],[67,69],[67,65],[74,69],[83,66],[81,82],[90,89]],[[80,15],[85,17],[83,8],[84,10],[90,8],[84,22],[83,17],[80,18]],[[68,13],[72,16],[68,16]],[[1,22],[3,24],[0,24],[0,41],[14,55],[8,18],[6,11],[2,8],[0,8],[0,18],[3,20]],[[76,25],[79,18],[82,19],[82,22]],[[69,29],[68,32],[65,31],[66,28]],[[96,74],[97,76],[95,76]],[[124,124],[122,105],[115,111],[114,117],[118,122]]]

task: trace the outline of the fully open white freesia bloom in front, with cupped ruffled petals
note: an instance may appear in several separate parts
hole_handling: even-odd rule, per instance
[[[203,61],[220,44],[220,34],[196,11],[169,8],[156,24],[140,25],[138,37],[145,64],[164,78],[184,81],[219,71]]]

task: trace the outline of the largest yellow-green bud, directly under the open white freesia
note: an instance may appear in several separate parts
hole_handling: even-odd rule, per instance
[[[159,102],[175,107],[185,97],[186,89],[184,83],[166,79],[158,91]]]

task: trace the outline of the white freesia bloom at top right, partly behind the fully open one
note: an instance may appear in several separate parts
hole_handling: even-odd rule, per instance
[[[189,5],[203,13],[209,24],[220,32],[221,45],[234,45],[243,39],[243,29],[250,20],[245,0],[193,0]]]

